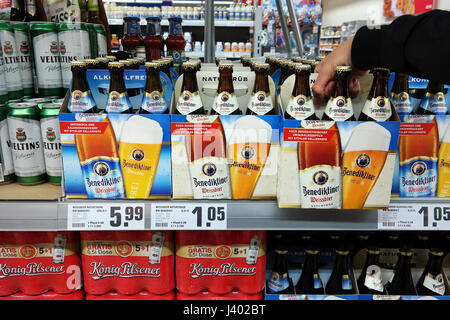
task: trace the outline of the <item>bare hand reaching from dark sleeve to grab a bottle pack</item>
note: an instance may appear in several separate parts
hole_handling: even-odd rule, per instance
[[[316,66],[315,72],[318,73],[318,76],[312,86],[314,103],[320,104],[326,102],[333,93],[336,86],[334,75],[336,73],[336,66],[339,65],[352,66],[352,75],[348,83],[350,96],[355,97],[358,95],[361,89],[358,78],[366,74],[367,71],[358,70],[352,65],[352,42],[353,37],[341,43]]]

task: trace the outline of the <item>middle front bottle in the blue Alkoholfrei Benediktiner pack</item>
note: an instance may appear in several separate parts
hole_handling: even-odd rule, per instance
[[[109,68],[109,93],[106,102],[106,112],[108,113],[133,113],[130,98],[125,89],[123,79],[123,63],[110,62]]]

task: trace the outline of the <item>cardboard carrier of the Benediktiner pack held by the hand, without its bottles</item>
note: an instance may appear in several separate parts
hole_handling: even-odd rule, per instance
[[[311,86],[316,78],[317,74],[311,74]],[[352,99],[356,119],[372,79],[372,75],[360,79],[361,91]],[[295,75],[291,75],[281,86],[278,97],[281,110],[286,110],[294,83]],[[314,107],[317,118],[321,119],[325,105]],[[395,110],[393,113],[395,121],[389,122],[299,121],[282,116],[278,206],[309,209],[388,207],[400,127]]]

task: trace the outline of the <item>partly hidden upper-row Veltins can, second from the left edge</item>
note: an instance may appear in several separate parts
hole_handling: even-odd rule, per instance
[[[20,72],[22,77],[23,94],[34,95],[33,64],[31,61],[31,46],[28,37],[28,23],[11,22],[16,38],[16,48],[19,56]]]

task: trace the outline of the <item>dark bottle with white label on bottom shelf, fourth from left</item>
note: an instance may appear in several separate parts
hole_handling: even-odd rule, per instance
[[[360,294],[385,294],[379,259],[380,249],[369,246],[366,253],[366,262],[357,280]]]

